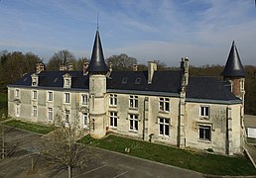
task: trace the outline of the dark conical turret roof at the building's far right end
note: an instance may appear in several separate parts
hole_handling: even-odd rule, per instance
[[[233,41],[229,51],[224,70],[221,72],[224,77],[245,77],[245,70],[240,60],[236,45]]]

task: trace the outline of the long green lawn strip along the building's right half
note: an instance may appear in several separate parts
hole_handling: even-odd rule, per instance
[[[80,142],[104,149],[175,165],[204,174],[256,175],[256,170],[245,157],[230,157],[204,152],[194,152],[177,147],[155,144],[109,134],[103,139],[84,136]],[[126,152],[125,148],[130,148]]]

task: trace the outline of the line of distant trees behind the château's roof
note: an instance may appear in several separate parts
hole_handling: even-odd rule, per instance
[[[42,62],[38,55],[20,51],[9,52],[7,50],[0,51],[0,92],[7,92],[6,85],[14,83],[22,77],[24,73],[35,71],[36,64]],[[68,50],[60,50],[53,54],[46,65],[47,70],[59,70],[60,65],[73,64],[74,70],[82,70],[84,62],[89,60],[86,57],[75,58]],[[138,70],[147,70],[146,64],[138,63],[135,57],[128,56],[125,53],[112,55],[106,58],[106,62],[114,70],[133,70],[134,65],[137,65]],[[177,67],[168,67],[160,60],[155,60],[158,63],[159,70],[176,69]],[[222,79],[220,73],[223,69],[221,65],[203,65],[190,66],[190,75],[199,76],[214,76]],[[245,113],[256,115],[256,66],[245,66]]]

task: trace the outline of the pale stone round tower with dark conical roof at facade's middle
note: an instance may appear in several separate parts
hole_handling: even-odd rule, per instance
[[[108,67],[104,60],[99,32],[96,32],[91,59],[87,68],[89,73],[89,122],[90,135],[102,138],[106,134],[106,73]]]

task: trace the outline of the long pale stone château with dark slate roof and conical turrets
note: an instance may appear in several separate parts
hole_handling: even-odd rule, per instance
[[[112,71],[97,31],[83,71],[46,71],[39,63],[9,85],[9,116],[50,124],[62,115],[68,123],[78,111],[80,125],[95,138],[112,132],[228,155],[243,151],[245,71],[234,42],[223,80],[190,76],[188,58],[177,70],[157,68],[149,61],[147,71]]]

